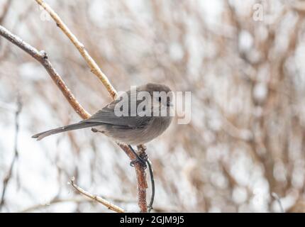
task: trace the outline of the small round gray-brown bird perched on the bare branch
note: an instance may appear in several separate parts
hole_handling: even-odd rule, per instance
[[[151,99],[138,100],[137,96],[133,94],[140,94],[140,92],[149,94]],[[156,92],[167,94],[167,96],[163,99],[162,96],[156,96]],[[38,133],[32,137],[41,140],[56,133],[94,127],[94,131],[104,133],[117,142],[140,145],[161,135],[170,126],[172,93],[169,87],[150,83],[136,87],[134,91],[129,90],[125,95],[128,100],[124,99],[124,96],[119,96],[118,99],[84,121]],[[132,106],[133,101],[135,106]],[[118,108],[118,106],[121,107]],[[128,106],[127,116],[118,116],[117,111],[122,111],[124,106]],[[165,111],[166,116],[161,114],[162,111]]]

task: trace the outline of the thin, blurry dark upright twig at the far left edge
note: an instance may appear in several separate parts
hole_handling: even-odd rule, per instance
[[[7,172],[6,177],[4,177],[3,181],[3,189],[1,194],[1,200],[0,200],[0,210],[4,206],[5,202],[5,194],[6,194],[6,187],[9,185],[9,181],[11,179],[11,175],[13,173],[13,167],[16,163],[16,160],[18,159],[18,133],[19,133],[19,114],[21,113],[22,103],[21,103],[21,97],[18,94],[17,95],[17,108],[15,112],[15,139],[14,139],[14,155],[13,160],[11,161],[11,165],[9,167],[9,172]]]

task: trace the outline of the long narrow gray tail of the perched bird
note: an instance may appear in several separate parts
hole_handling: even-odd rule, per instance
[[[49,131],[45,131],[42,133],[37,133],[37,134],[33,135],[32,138],[37,138],[37,140],[42,140],[43,138],[45,138],[49,135],[63,133],[65,131],[72,131],[72,130],[76,130],[79,128],[90,128],[90,127],[99,126],[99,125],[101,125],[101,123],[81,121],[79,123],[72,123],[69,126],[63,126],[63,127],[54,128],[54,129],[51,129]]]

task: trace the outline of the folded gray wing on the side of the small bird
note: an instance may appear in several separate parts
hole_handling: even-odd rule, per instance
[[[131,111],[129,110],[128,116],[116,116],[115,106],[118,104],[119,99],[112,101],[110,104],[105,106],[103,109],[96,112],[90,118],[84,120],[83,122],[89,123],[105,123],[116,128],[143,128],[150,120],[151,116],[131,116]]]

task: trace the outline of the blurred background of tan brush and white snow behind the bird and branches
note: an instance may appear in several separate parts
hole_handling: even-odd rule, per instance
[[[47,3],[118,91],[157,82],[192,92],[192,121],[175,118],[147,144],[155,211],[305,211],[304,1]],[[45,50],[89,113],[111,101],[35,1],[0,0],[0,24]],[[109,138],[89,129],[30,138],[80,118],[45,69],[2,37],[0,118],[1,212],[108,212],[75,193],[72,176],[138,211],[135,171]]]

